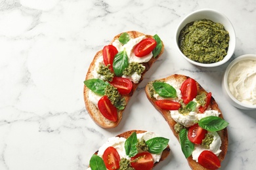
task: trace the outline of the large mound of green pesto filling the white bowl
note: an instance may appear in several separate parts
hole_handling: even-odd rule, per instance
[[[179,48],[189,59],[199,63],[215,63],[227,54],[228,31],[220,23],[196,20],[186,24],[179,35]]]

